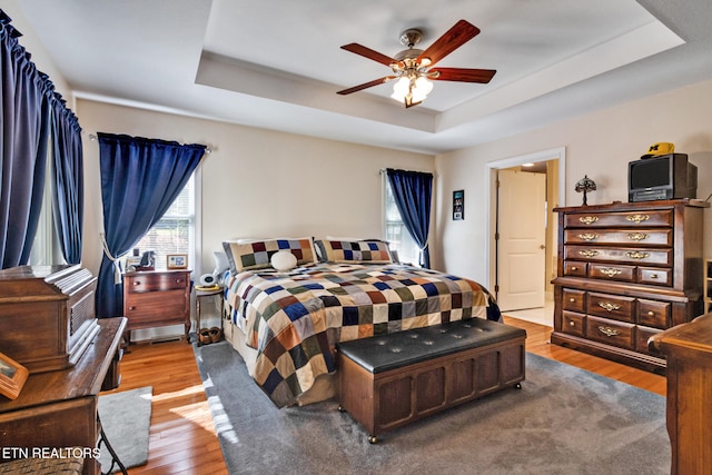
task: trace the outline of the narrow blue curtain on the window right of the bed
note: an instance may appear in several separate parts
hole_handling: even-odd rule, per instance
[[[427,235],[431,228],[431,201],[433,199],[433,174],[421,171],[386,170],[400,219],[421,248],[421,266],[431,268]]]

